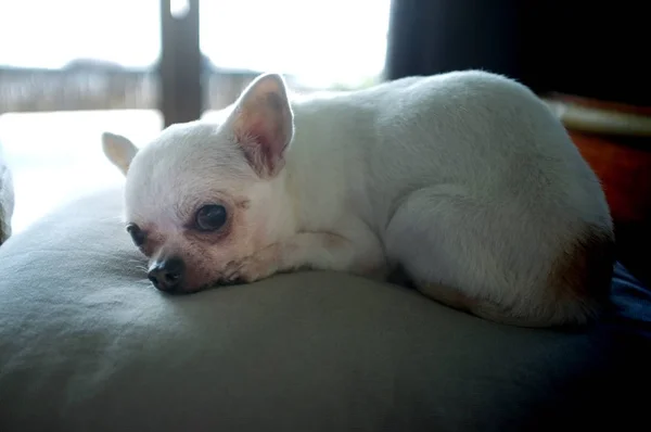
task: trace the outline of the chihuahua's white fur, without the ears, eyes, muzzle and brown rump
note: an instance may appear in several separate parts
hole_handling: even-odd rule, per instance
[[[585,226],[612,234],[609,207],[526,87],[468,71],[296,98],[284,168],[270,179],[233,144],[239,103],[220,124],[164,131],[127,175],[127,217],[153,221],[181,251],[183,208],[215,188],[251,199],[238,246],[204,250],[199,267],[210,276],[309,267],[384,278],[399,265],[433,298],[451,289],[496,308],[486,316],[552,325],[589,315],[585,298],[556,300],[562,287],[547,276]]]

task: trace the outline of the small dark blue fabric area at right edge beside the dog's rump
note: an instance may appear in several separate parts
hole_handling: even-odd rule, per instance
[[[607,322],[617,331],[651,340],[651,290],[616,263],[611,285],[612,312]]]

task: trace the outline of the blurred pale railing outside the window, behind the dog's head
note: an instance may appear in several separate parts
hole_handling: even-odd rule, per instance
[[[204,110],[232,103],[257,76],[250,71],[204,67]],[[289,85],[301,88],[292,77]],[[76,62],[61,69],[0,66],[0,114],[82,110],[157,110],[159,75],[156,68],[127,69],[113,64]]]

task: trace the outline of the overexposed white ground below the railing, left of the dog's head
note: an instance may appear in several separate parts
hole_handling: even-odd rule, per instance
[[[0,115],[0,145],[14,177],[14,233],[75,198],[124,181],[102,152],[103,131],[139,145],[162,126],[157,111]]]

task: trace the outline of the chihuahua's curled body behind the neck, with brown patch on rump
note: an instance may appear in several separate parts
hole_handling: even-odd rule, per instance
[[[330,139],[322,145],[332,165],[322,169],[336,174],[323,183],[346,190],[423,292],[532,326],[583,322],[598,308],[613,264],[608,203],[562,124],[526,87],[457,72],[314,104]],[[311,109],[297,118],[302,110]]]

